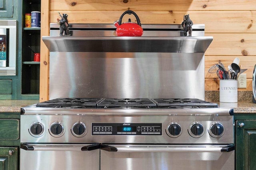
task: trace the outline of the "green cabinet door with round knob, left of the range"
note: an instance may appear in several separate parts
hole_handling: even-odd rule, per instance
[[[17,170],[18,148],[0,147],[0,170]]]

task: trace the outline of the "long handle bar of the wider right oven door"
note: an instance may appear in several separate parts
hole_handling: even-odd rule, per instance
[[[108,146],[108,145],[106,145]],[[113,145],[114,152],[230,152],[234,145]],[[102,150],[112,151],[106,148]],[[112,151],[112,152],[113,152]]]

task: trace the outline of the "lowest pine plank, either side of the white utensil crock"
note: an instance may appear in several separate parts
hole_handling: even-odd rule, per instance
[[[239,88],[239,91],[252,91],[252,79],[246,80],[246,88]],[[206,78],[204,81],[204,88],[206,91],[220,90],[220,80],[217,78]]]

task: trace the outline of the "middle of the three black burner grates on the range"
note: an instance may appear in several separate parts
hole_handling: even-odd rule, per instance
[[[97,104],[97,107],[120,108],[120,107],[136,107],[136,108],[152,108],[156,107],[151,99],[104,99]]]

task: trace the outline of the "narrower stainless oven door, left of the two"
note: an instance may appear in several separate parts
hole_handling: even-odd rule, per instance
[[[99,170],[99,144],[21,144],[20,170]]]

